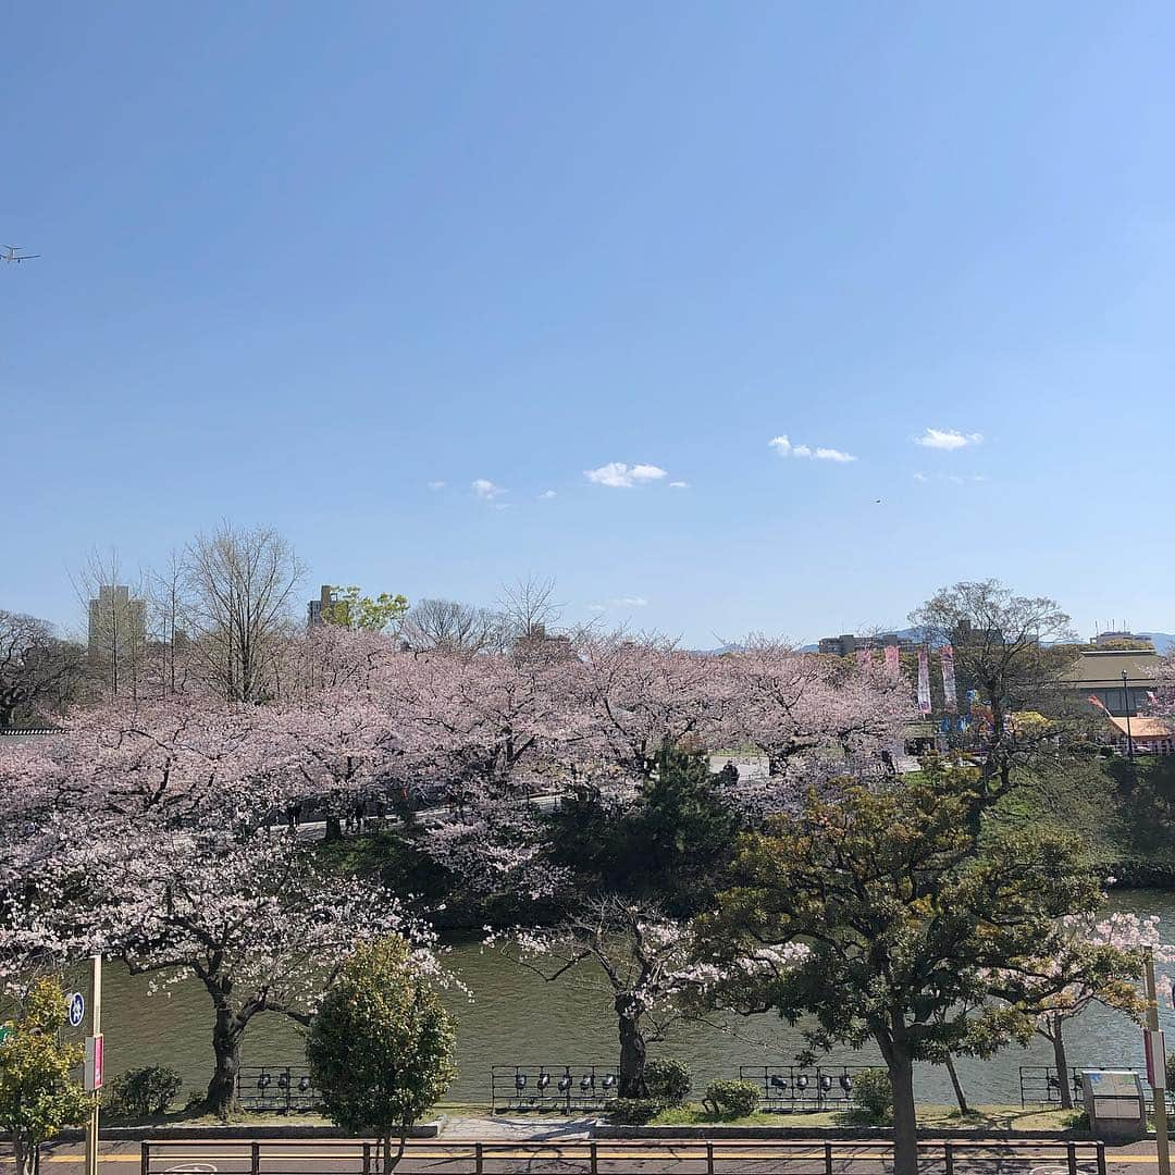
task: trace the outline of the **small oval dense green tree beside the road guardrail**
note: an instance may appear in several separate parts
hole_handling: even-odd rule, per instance
[[[383,1170],[404,1154],[409,1128],[457,1076],[456,1028],[408,942],[356,947],[307,1036],[314,1085],[331,1121],[381,1141]],[[400,1147],[391,1153],[391,1140]]]

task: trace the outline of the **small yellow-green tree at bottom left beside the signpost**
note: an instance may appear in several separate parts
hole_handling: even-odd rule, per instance
[[[62,1127],[85,1121],[90,1100],[70,1070],[82,1048],[59,1038],[66,996],[49,978],[34,981],[0,1040],[0,1128],[12,1135],[16,1175],[36,1175],[41,1143]]]

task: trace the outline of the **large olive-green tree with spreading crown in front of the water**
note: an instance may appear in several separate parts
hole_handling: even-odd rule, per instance
[[[1101,900],[1075,848],[1040,832],[980,834],[983,803],[973,772],[941,766],[835,800],[812,793],[741,838],[736,887],[701,920],[718,960],[748,942],[807,945],[798,965],[714,998],[806,1018],[805,1062],[872,1039],[893,1087],[895,1175],[918,1170],[913,1062],[1026,1042],[1033,1009],[1099,965],[1060,928]]]

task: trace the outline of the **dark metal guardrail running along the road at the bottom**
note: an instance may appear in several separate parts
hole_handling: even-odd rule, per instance
[[[927,1141],[919,1143],[921,1175],[1106,1175],[1101,1142],[1018,1143]],[[215,1160],[215,1164],[210,1162]],[[569,1140],[565,1142],[442,1142],[411,1140],[402,1166],[419,1163],[445,1175],[512,1175],[553,1168],[562,1175],[638,1175],[654,1161],[663,1171],[691,1175],[880,1175],[892,1170],[889,1142],[740,1140]],[[210,1171],[219,1175],[372,1175],[378,1144],[369,1140],[266,1140],[231,1143],[145,1142],[140,1175]],[[645,1164],[645,1166],[643,1166]],[[770,1164],[770,1166],[768,1166]]]

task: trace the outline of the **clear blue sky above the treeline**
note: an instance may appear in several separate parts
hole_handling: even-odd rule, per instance
[[[42,256],[0,266],[0,607],[72,622],[92,546],[228,517],[311,583],[550,575],[691,644],[987,576],[1175,630],[1173,38],[1163,4],[9,8],[0,240]]]

